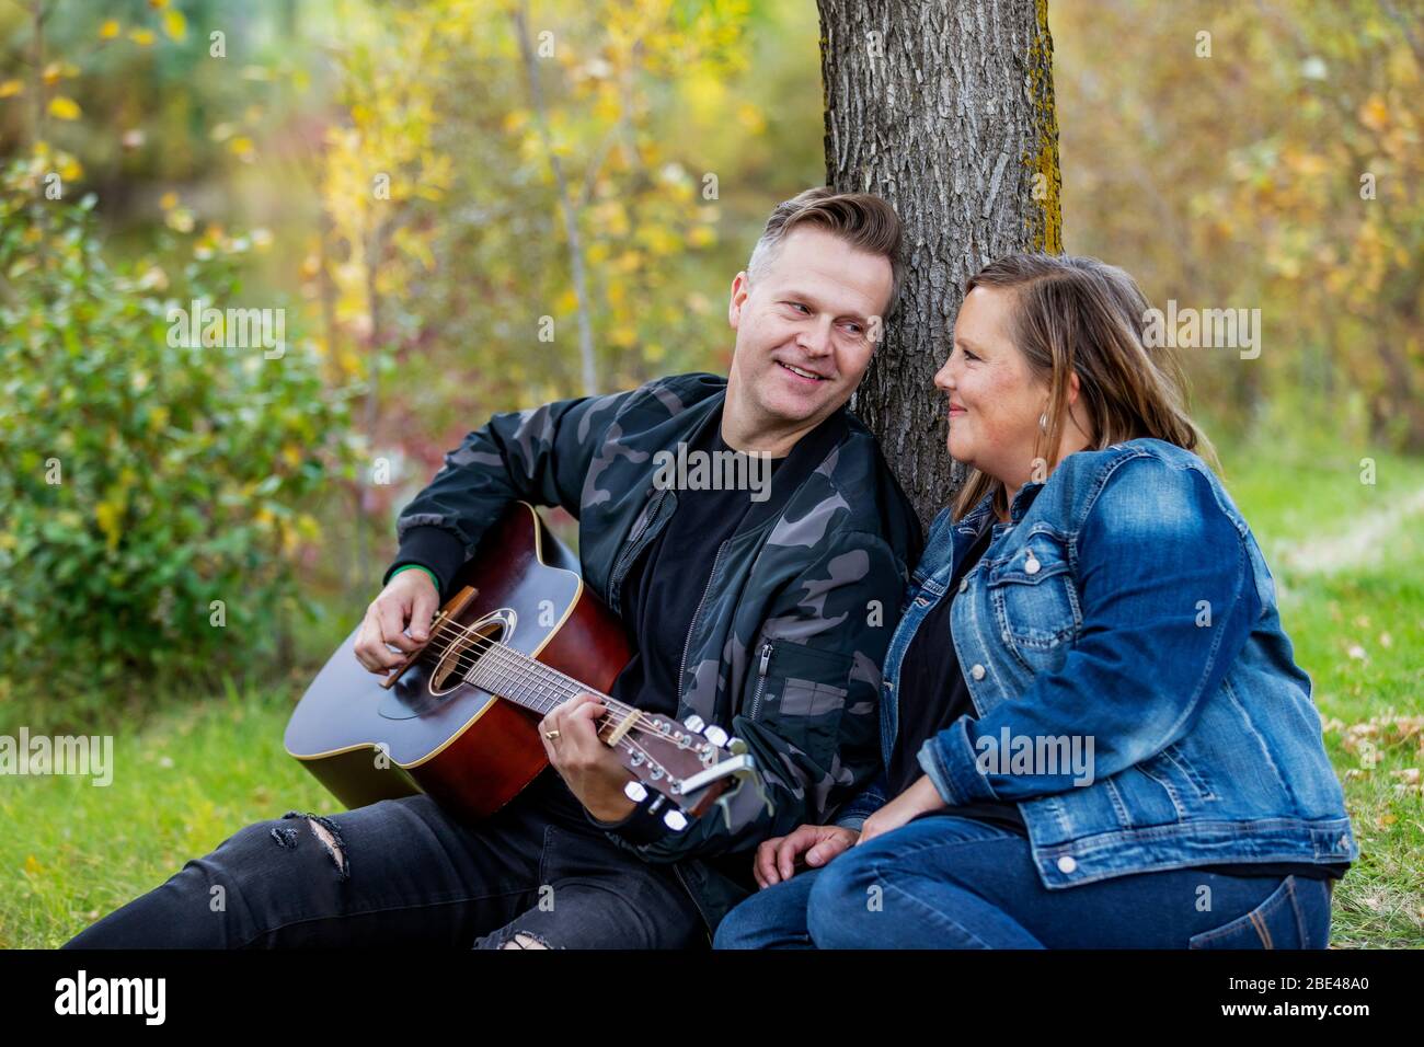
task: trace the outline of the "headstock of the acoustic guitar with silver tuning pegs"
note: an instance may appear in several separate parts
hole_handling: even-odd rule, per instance
[[[641,712],[637,722],[614,728],[605,738],[634,781],[624,786],[628,799],[642,802],[649,792],[659,793],[649,811],[661,812],[669,829],[685,829],[701,818],[716,799],[743,781],[760,788],[756,761],[740,738],[729,738],[715,724],[701,717],[686,722],[655,712]]]

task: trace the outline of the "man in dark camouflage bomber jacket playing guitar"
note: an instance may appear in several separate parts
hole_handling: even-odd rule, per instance
[[[513,500],[562,506],[580,521],[585,584],[637,651],[612,697],[742,738],[765,793],[742,783],[725,811],[669,829],[651,796],[624,793],[629,775],[597,736],[604,709],[580,695],[540,724],[551,769],[477,825],[427,796],[305,825],[292,812],[70,944],[706,942],[755,886],[756,845],[823,821],[879,769],[879,667],[920,530],[844,405],[893,306],[899,242],[883,201],[803,192],[772,212],[732,282],[725,380],[659,379],[470,433],[402,513],[356,642],[373,672],[400,664]],[[738,463],[740,476],[769,459],[769,487],[668,469],[728,454],[759,456]],[[226,907],[208,919],[218,886]]]

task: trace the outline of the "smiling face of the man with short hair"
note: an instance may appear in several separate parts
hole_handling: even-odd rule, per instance
[[[891,283],[890,259],[816,226],[792,229],[762,272],[732,282],[728,396],[769,429],[829,417],[870,366]]]

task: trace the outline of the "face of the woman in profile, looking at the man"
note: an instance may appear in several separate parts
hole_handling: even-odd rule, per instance
[[[934,385],[950,400],[950,454],[1017,489],[1035,479],[1034,442],[1042,436],[1038,419],[1049,387],[1008,338],[1012,303],[1005,288],[968,293]]]

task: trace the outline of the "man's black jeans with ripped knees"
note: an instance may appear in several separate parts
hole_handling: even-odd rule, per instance
[[[249,825],[64,947],[498,949],[517,934],[568,949],[708,944],[672,868],[618,848],[547,769],[473,828],[429,796]]]

